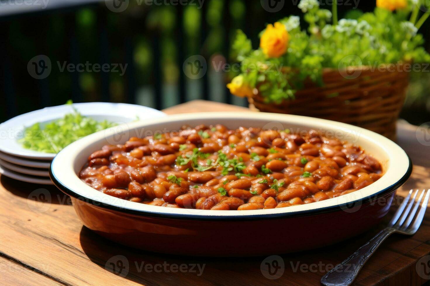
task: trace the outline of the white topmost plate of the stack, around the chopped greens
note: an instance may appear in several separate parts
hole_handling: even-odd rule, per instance
[[[73,107],[84,116],[89,116],[98,121],[106,119],[118,124],[132,122],[136,119],[144,120],[166,116],[165,113],[150,107],[126,103],[74,103]],[[71,105],[52,106],[25,113],[3,122],[0,124],[0,151],[18,157],[52,160],[56,154],[25,149],[17,140],[23,137],[25,127],[37,122],[47,123],[72,112]]]

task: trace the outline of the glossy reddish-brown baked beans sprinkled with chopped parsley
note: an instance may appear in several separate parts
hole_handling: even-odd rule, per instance
[[[162,207],[260,210],[309,204],[369,186],[381,164],[359,146],[224,125],[132,137],[92,153],[80,179],[105,194]]]

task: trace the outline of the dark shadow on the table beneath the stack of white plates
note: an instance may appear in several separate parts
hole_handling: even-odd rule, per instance
[[[70,197],[55,186],[21,182],[6,176],[0,176],[1,185],[13,195],[51,204],[71,205]]]

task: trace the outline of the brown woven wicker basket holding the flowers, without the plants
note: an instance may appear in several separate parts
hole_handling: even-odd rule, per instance
[[[348,76],[349,75],[349,76]],[[325,69],[323,86],[312,82],[281,104],[265,103],[257,94],[249,97],[253,110],[330,119],[360,126],[395,140],[396,120],[405,100],[408,73],[402,65],[390,70],[349,67]]]

